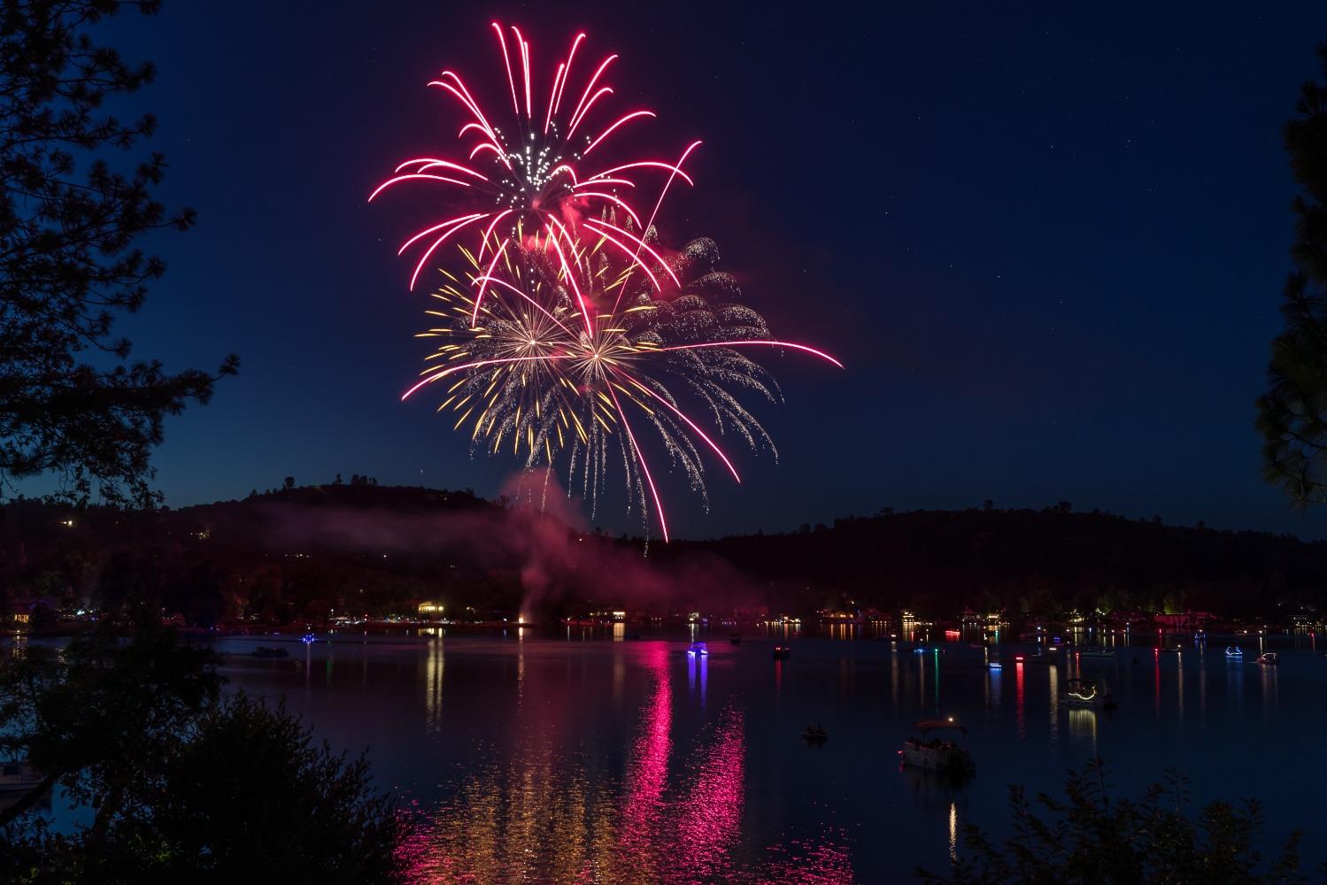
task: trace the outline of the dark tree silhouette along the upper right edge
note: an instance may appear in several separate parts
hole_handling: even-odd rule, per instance
[[[1327,41],[1318,46],[1327,77]],[[1282,135],[1303,194],[1292,204],[1295,271],[1281,306],[1286,328],[1271,342],[1269,390],[1258,398],[1263,476],[1299,507],[1327,500],[1327,86],[1300,88]]]

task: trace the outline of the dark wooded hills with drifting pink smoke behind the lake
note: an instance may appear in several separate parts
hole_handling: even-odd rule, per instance
[[[1204,609],[1271,617],[1327,601],[1327,544],[1072,512],[881,512],[796,532],[652,544],[587,533],[470,491],[289,487],[182,510],[0,507],[0,593],[96,608],[159,597],[211,625],[387,616],[421,600],[514,617],[613,606],[965,606],[1060,614]]]

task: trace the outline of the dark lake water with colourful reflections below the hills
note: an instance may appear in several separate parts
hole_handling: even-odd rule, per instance
[[[1227,662],[1225,642],[1112,659],[1014,663],[949,642],[774,641],[727,633],[709,657],[671,641],[342,637],[248,657],[223,640],[232,687],[288,706],[334,747],[369,750],[384,788],[418,815],[417,881],[880,882],[942,872],[966,821],[997,833],[1007,784],[1058,793],[1101,755],[1113,795],[1174,767],[1201,803],[1259,797],[1265,852],[1306,829],[1324,860],[1327,658],[1307,638],[1279,667]],[[1064,681],[1108,683],[1112,713],[1066,709]],[[961,787],[901,770],[918,719],[969,728],[977,775]],[[829,740],[808,747],[802,730]]]

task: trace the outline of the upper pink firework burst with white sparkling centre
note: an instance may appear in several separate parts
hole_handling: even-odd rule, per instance
[[[641,249],[633,240],[649,230],[674,180],[693,184],[682,165],[701,142],[693,142],[674,161],[630,157],[610,159],[621,134],[654,117],[646,109],[606,113],[613,88],[606,76],[617,56],[589,64],[581,53],[584,33],[576,34],[565,58],[557,62],[552,81],[540,89],[529,41],[519,28],[491,25],[502,54],[502,73],[511,100],[511,123],[502,129],[490,117],[454,70],[443,70],[429,86],[460,105],[464,123],[456,133],[454,157],[415,157],[401,162],[391,176],[369,195],[372,202],[398,184],[446,188],[441,204],[447,218],[417,231],[401,244],[398,255],[417,249],[410,275],[414,289],[419,273],[438,249],[462,232],[478,235],[482,259],[503,239],[528,244],[555,239],[555,231],[580,236],[581,219],[598,216],[612,227],[608,244],[637,261]],[[575,84],[575,85],[572,85]],[[504,97],[504,100],[507,98]],[[506,101],[503,102],[506,105]],[[502,111],[506,115],[506,107]],[[658,182],[653,204],[641,202],[646,182]],[[650,206],[644,215],[641,207]],[[602,220],[610,208],[622,226]],[[634,231],[634,235],[632,234]]]

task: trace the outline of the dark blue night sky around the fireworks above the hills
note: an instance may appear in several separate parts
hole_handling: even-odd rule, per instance
[[[163,198],[199,212],[154,239],[169,271],[122,330],[167,368],[243,358],[170,422],[167,502],[512,475],[398,401],[429,348],[395,245],[426,216],[365,203],[413,151],[453,153],[442,68],[502,107],[499,19],[537,70],[577,29],[621,53],[616,106],[658,111],[664,154],[705,139],[665,241],[713,236],[778,334],[847,365],[766,360],[779,463],[738,448],[746,482],[711,471],[709,513],[666,479],[674,535],[1064,499],[1327,536],[1262,483],[1253,429],[1290,269],[1279,127],[1327,7],[994,5],[171,0],[104,28],[157,62],[133,105],[161,118]]]

